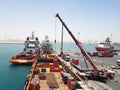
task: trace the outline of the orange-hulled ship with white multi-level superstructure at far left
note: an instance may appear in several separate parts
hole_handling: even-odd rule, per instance
[[[38,37],[34,37],[32,32],[31,37],[27,37],[24,42],[25,48],[21,53],[13,56],[9,62],[13,64],[32,64],[39,57],[40,44]]]

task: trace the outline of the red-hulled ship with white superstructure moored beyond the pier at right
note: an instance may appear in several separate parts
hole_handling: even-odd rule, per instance
[[[97,51],[107,51],[114,49],[109,37],[106,38],[105,42],[98,44],[95,48]]]

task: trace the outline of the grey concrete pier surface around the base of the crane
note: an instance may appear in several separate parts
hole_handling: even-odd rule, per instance
[[[67,52],[71,58],[76,58],[79,61],[80,67],[86,67],[84,59],[81,53],[78,52]],[[88,80],[90,86],[94,86],[94,90],[120,90],[120,69],[111,69],[111,65],[116,64],[116,60],[120,59],[120,54],[114,55],[113,57],[92,57],[99,69],[106,68],[115,72],[115,78],[108,80],[106,83]],[[87,62],[89,63],[89,62]],[[82,65],[82,66],[81,66]],[[88,64],[90,68],[92,66]]]

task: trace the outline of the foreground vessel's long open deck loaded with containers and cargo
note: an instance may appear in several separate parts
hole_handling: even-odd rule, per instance
[[[53,59],[40,58],[33,64],[25,90],[91,90],[91,87],[70,69],[56,56]]]

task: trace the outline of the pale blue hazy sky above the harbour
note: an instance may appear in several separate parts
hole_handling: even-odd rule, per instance
[[[60,41],[57,13],[82,42],[120,42],[120,0],[0,0],[0,40],[25,40],[34,31],[40,41]],[[72,41],[65,28],[64,41]]]

